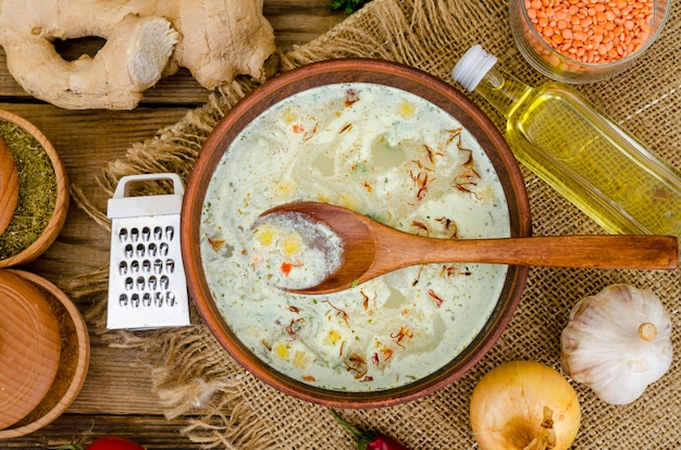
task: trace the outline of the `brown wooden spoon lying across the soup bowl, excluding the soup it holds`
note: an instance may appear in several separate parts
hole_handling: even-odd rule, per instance
[[[397,268],[426,263],[497,263],[554,267],[676,268],[673,236],[536,236],[494,239],[436,239],[410,235],[342,207],[296,202],[261,216],[298,213],[321,222],[343,241],[343,262],[317,286],[287,289],[327,293],[347,289]]]

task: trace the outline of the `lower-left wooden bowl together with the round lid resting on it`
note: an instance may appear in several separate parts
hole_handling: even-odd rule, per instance
[[[85,382],[90,347],[78,309],[49,280],[0,270],[0,376],[3,386],[7,378],[16,387],[0,396],[0,439],[10,439],[36,432],[66,411]],[[8,338],[17,346],[10,347]],[[20,350],[23,354],[14,354]]]

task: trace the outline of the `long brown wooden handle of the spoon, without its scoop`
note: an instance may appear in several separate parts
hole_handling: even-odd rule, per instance
[[[404,257],[413,260],[405,260],[405,265],[471,262],[641,270],[679,265],[679,241],[673,236],[535,236],[444,241],[423,238],[418,246],[406,247],[411,247],[413,252],[403,247],[407,253]]]

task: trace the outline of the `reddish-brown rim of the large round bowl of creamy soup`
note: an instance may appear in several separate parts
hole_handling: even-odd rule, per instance
[[[338,408],[375,408],[410,401],[449,385],[469,371],[494,346],[521,297],[527,266],[509,266],[488,318],[455,358],[441,368],[405,385],[372,391],[313,386],[273,368],[228,325],[207,282],[201,252],[201,212],[216,167],[240,133],[270,107],[298,92],[345,83],[369,83],[411,92],[454,116],[478,140],[496,171],[509,209],[510,236],[531,234],[530,207],[518,164],[492,122],[471,101],[446,83],[423,72],[385,61],[346,59],[289,71],[257,88],[216,125],[190,174],[182,214],[182,250],[188,287],[203,322],[218,341],[246,370],[264,383],[299,399]],[[346,102],[347,103],[347,102]],[[339,187],[343,189],[343,187]],[[228,202],[230,199],[223,199]],[[236,200],[235,200],[236,201]],[[224,274],[228,277],[230,274]],[[226,292],[228,296],[228,292]],[[313,301],[313,300],[310,300]],[[267,346],[265,346],[267,347]]]

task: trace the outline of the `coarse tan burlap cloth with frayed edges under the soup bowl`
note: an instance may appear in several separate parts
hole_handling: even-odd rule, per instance
[[[282,70],[343,57],[399,61],[449,83],[450,70],[474,42],[528,84],[546,82],[518,53],[503,0],[373,0],[319,39],[282,54]],[[672,2],[660,39],[635,67],[608,82],[580,89],[677,168],[681,167],[681,7]],[[191,111],[154,139],[129,149],[110,164],[101,184],[111,193],[127,174],[176,172],[188,176],[201,143],[224,113],[255,85],[235,83],[215,92],[209,104]],[[475,95],[470,96],[497,126],[504,121]],[[523,168],[535,235],[599,234],[603,230],[554,190]],[[101,211],[74,187],[76,201],[107,226]],[[186,417],[182,433],[208,448],[350,449],[348,435],[325,408],[270,388],[238,366],[206,327],[153,333],[106,333],[107,280],[88,276],[82,287],[102,300],[91,311],[97,330],[112,345],[147,352],[154,388],[169,417]],[[532,268],[510,326],[492,351],[450,386],[408,404],[379,410],[344,411],[355,424],[380,430],[411,449],[475,448],[469,425],[469,399],[475,383],[492,367],[510,360],[534,360],[560,370],[560,332],[577,300],[612,283],[652,288],[672,315],[672,335],[681,351],[679,282],[681,271],[591,271]],[[83,293],[83,292],[81,292]],[[200,321],[197,321],[200,323]],[[665,377],[630,405],[599,401],[585,386],[574,385],[583,420],[574,448],[681,448],[681,358]],[[200,407],[200,409],[196,409]],[[208,413],[207,413],[208,411]]]

